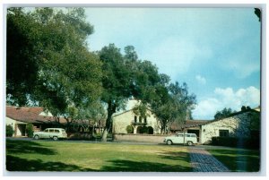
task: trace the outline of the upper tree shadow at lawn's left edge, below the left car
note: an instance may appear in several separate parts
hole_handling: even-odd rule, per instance
[[[6,151],[11,154],[44,154],[55,155],[56,150],[49,149],[46,146],[34,141],[6,141]]]

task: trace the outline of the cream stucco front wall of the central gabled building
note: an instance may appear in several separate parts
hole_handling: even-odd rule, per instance
[[[153,128],[153,133],[161,133],[161,130],[157,124],[157,119],[155,116],[152,115],[152,112],[147,110],[147,116],[146,119],[146,126],[152,126]],[[127,133],[126,132],[126,127],[127,125],[132,125],[135,129],[133,123],[134,123],[134,112],[132,110],[126,111],[125,113],[122,113],[120,115],[114,116],[113,117],[113,133]],[[139,117],[137,116],[137,122],[139,122]],[[142,120],[144,122],[144,120]],[[135,133],[135,130],[134,130]]]

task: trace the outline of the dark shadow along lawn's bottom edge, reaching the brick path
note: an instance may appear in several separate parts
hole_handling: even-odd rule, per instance
[[[110,166],[104,166],[101,171],[108,172],[190,172],[190,167],[180,165],[169,165],[157,162],[131,161],[131,160],[111,160]]]

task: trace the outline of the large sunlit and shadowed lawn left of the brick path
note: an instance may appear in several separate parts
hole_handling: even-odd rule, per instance
[[[184,147],[6,141],[9,171],[190,172],[189,162]]]

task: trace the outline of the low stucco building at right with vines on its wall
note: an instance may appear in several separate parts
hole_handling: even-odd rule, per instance
[[[213,137],[238,137],[249,138],[260,136],[260,108],[241,109],[228,117],[204,121],[187,120],[185,124],[178,126],[172,124],[174,132],[196,133],[201,144],[210,143]]]

